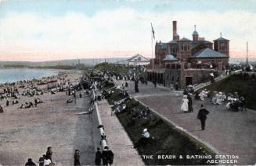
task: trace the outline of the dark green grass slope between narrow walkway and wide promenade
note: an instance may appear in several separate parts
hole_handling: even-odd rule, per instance
[[[114,94],[111,95],[109,101],[120,99],[120,90],[116,90]],[[142,109],[144,106],[139,104],[134,99],[126,101],[128,108]],[[124,126],[126,132],[130,136],[133,143],[136,143],[142,133],[142,130],[149,129],[150,135],[154,137],[154,140],[147,144],[146,146],[139,147],[138,151],[141,155],[154,155],[153,160],[144,160],[146,164],[150,165],[166,165],[166,164],[206,164],[206,160],[186,160],[178,159],[180,154],[183,157],[186,154],[197,154],[206,155],[213,154],[202,144],[197,141],[192,141],[188,136],[183,136],[181,132],[173,129],[173,126],[164,122],[162,119],[158,118],[157,115],[152,115],[151,118],[135,120],[132,123],[132,115],[128,112],[121,112],[117,114],[121,124]],[[176,155],[175,160],[157,160],[157,155]]]

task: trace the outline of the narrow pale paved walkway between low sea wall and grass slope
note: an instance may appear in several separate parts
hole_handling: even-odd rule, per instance
[[[106,132],[106,140],[114,152],[114,165],[144,165],[137,150],[132,149],[132,141],[119,122],[111,116],[111,108],[106,100],[98,101],[100,116]]]

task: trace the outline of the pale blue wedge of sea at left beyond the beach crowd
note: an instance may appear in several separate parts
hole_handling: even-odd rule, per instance
[[[20,80],[37,79],[57,75],[59,69],[0,69],[0,83],[13,83]]]

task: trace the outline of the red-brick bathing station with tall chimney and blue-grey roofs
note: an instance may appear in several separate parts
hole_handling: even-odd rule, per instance
[[[172,40],[155,45],[156,58],[148,66],[148,79],[165,86],[178,83],[180,87],[200,83],[211,72],[223,72],[229,66],[229,40],[219,37],[206,41],[195,29],[193,40],[180,39],[177,22],[173,21]]]

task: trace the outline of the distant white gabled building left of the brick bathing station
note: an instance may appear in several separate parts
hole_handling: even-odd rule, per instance
[[[149,65],[150,59],[143,57],[142,55],[134,55],[131,58],[128,58],[122,62],[118,62],[118,64],[124,64],[124,65]]]

